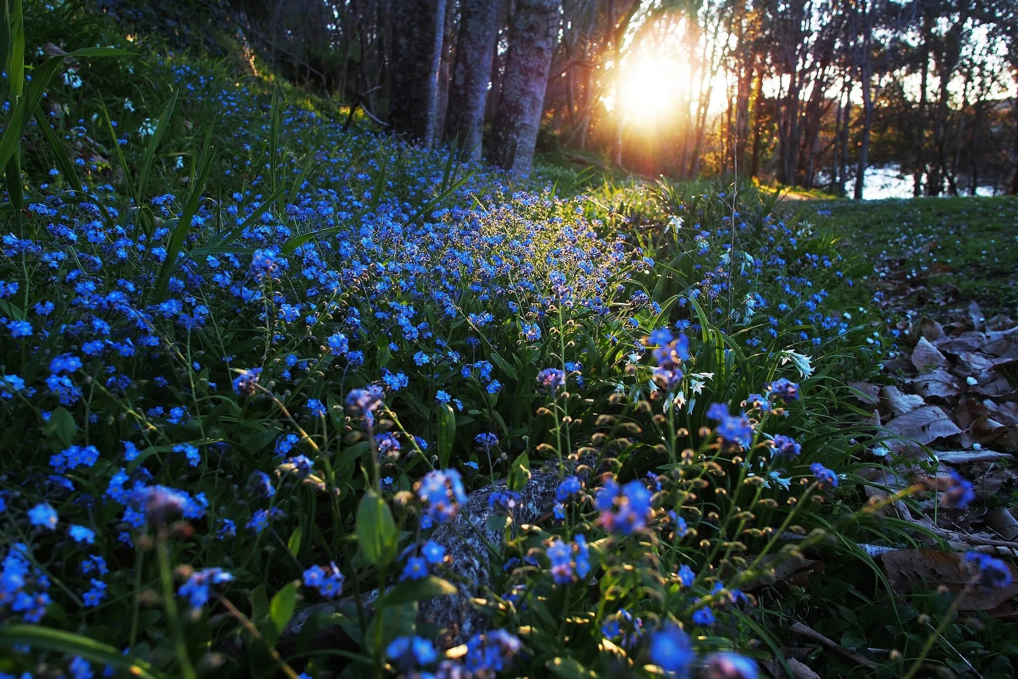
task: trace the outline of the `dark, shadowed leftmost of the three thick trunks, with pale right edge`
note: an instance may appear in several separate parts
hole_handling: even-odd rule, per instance
[[[392,4],[392,89],[389,123],[426,147],[435,128],[446,0]]]

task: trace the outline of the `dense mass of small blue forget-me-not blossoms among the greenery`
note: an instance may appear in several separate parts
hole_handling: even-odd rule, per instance
[[[179,59],[154,68],[197,112],[256,121],[270,108]],[[117,144],[139,154],[134,143],[154,122],[126,104]],[[261,613],[298,578],[305,598],[352,597],[367,561],[400,596],[440,578],[466,593],[438,531],[487,529],[499,536],[486,545],[492,586],[506,593],[470,593],[488,597],[493,627],[450,657],[421,636],[429,627],[394,617],[402,627],[374,649],[392,672],[523,673],[562,650],[559,632],[582,625],[572,638],[610,643],[640,666],[755,677],[737,639],[703,655],[689,634],[720,638],[719,621],[749,605],[739,580],[726,586],[704,562],[701,540],[732,556],[744,536],[704,516],[703,496],[720,507],[751,482],[778,482],[766,486],[772,500],[789,498],[792,477],[812,477],[817,494],[838,487],[824,464],[837,465],[814,461],[790,423],[808,385],[777,377],[794,375],[779,353],[805,376],[809,358],[793,349],[849,332],[823,287],[844,276],[838,258],[808,251],[807,234],[771,219],[750,238],[737,215],[687,229],[685,252],[658,234],[637,246],[583,200],[516,190],[479,166],[420,213],[446,180],[448,151],[345,131],[296,106],[277,114],[287,150],[278,175],[264,171],[268,123],[219,130],[234,153],[217,172],[232,188],[201,201],[184,233],[174,225],[187,173],[135,205],[119,182],[104,183],[102,161],[78,158],[88,195],[48,175],[29,228],[0,239],[0,350],[18,357],[0,367],[6,440],[18,447],[3,453],[0,478],[10,539],[0,622],[84,627],[99,606],[136,615],[149,595],[133,583],[168,576],[188,609],[182,625],[225,627],[212,618],[219,598]],[[84,119],[60,132],[97,134]],[[275,186],[293,188],[273,197]],[[655,260],[680,254],[693,279],[669,305],[651,294],[671,278]],[[700,313],[732,324],[777,379],[748,395],[712,383],[720,369],[705,366]],[[517,455],[549,468],[558,458],[554,502],[532,522],[519,520],[533,498],[510,463]],[[487,489],[484,526],[459,518],[473,489]],[[970,496],[956,479],[942,502]],[[364,512],[370,533],[356,525],[364,498],[380,504]],[[1010,577],[981,556],[973,568],[980,583]],[[110,642],[131,655],[168,639],[173,625],[149,617],[151,637],[114,630]],[[165,662],[173,673],[177,660]],[[80,658],[68,669],[93,671]]]

